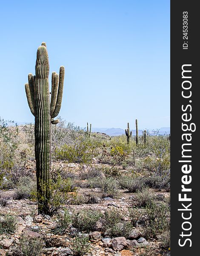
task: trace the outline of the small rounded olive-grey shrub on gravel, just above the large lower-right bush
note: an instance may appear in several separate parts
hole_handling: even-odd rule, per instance
[[[137,207],[145,208],[153,204],[155,197],[149,192],[148,189],[143,189],[141,192],[136,192],[134,199]]]

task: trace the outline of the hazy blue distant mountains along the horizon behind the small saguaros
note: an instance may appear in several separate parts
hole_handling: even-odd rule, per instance
[[[91,128],[92,132],[100,132],[100,133],[105,133],[109,136],[119,136],[122,134],[125,134],[125,130],[121,129],[121,128]],[[136,135],[136,130],[131,130],[132,131],[132,135],[135,136]],[[156,130],[157,131],[157,130]],[[138,130],[138,134],[143,135],[143,130]],[[154,135],[155,132],[154,131],[149,131],[150,135]],[[162,127],[159,129],[158,131],[159,135],[165,135],[165,134],[170,134],[170,127]]]

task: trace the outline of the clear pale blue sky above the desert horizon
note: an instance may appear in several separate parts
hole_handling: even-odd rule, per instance
[[[170,126],[169,0],[2,1],[0,116],[34,122],[24,84],[45,41],[65,66],[60,116],[85,127]]]

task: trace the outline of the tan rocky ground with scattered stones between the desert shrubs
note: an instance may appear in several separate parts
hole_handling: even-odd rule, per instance
[[[77,172],[78,164],[65,164],[58,162],[60,166],[66,165],[70,172]],[[34,162],[29,161],[27,163],[27,169],[32,169],[34,172]],[[0,207],[0,214],[10,214],[14,215],[17,219],[17,225],[14,234],[11,235],[0,235],[0,255],[2,256],[15,256],[17,254],[17,247],[20,243],[20,238],[43,238],[46,240],[46,245],[42,250],[41,255],[51,255],[51,256],[66,256],[73,255],[71,242],[73,241],[73,236],[71,236],[70,227],[68,232],[65,234],[55,234],[52,232],[54,227],[57,225],[57,218],[50,217],[49,215],[37,215],[37,204],[29,199],[14,200],[15,189],[9,189],[7,191],[0,191],[0,198],[7,200],[7,205],[5,207]],[[119,195],[116,198],[102,198],[100,189],[94,188],[78,188],[78,195],[85,196],[88,193],[93,193],[97,196],[97,203],[95,204],[80,204],[80,205],[66,205],[64,208],[69,210],[80,210],[80,209],[90,209],[99,210],[104,213],[106,209],[119,209],[124,212],[128,211],[131,204],[134,201],[134,193],[127,193],[124,190],[119,191]],[[163,200],[169,197],[169,192],[157,191],[156,189],[151,189],[158,200]],[[62,213],[63,210],[61,210]],[[1,217],[3,218],[3,217]],[[126,215],[124,220],[126,220]],[[91,244],[90,250],[86,255],[88,256],[139,256],[145,255],[140,254],[143,250],[142,247],[155,247],[158,248],[159,241],[146,241],[143,238],[143,231],[141,227],[134,228],[131,231],[129,239],[125,237],[102,237],[102,234],[98,231],[85,234],[89,237],[89,242]],[[136,249],[137,248],[137,249]],[[134,252],[133,252],[133,249]],[[155,249],[159,255],[159,249]],[[147,254],[146,254],[147,255]],[[151,254],[148,254],[151,255]],[[161,255],[161,254],[160,254]],[[169,253],[168,253],[169,255]],[[153,255],[152,255],[153,256]]]

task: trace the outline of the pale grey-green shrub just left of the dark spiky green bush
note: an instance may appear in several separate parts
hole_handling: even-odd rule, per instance
[[[81,180],[88,180],[94,177],[102,177],[101,169],[93,166],[81,165],[79,167],[79,177]]]

